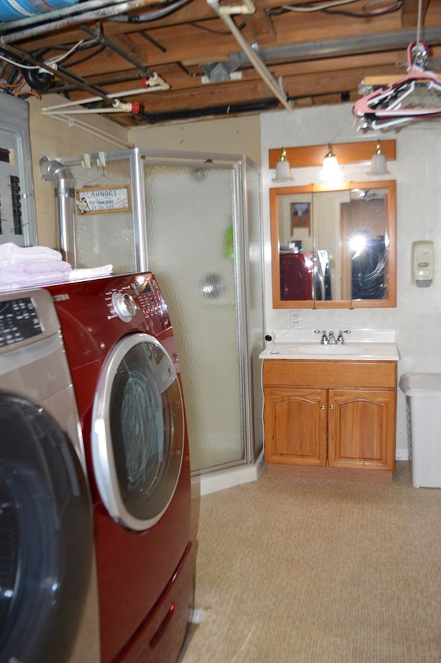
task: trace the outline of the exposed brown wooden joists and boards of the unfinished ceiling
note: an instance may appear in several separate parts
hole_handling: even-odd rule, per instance
[[[227,0],[225,0],[227,1]],[[230,0],[232,1],[232,0]],[[256,0],[255,0],[256,1]],[[302,5],[305,0],[293,0],[290,6]],[[371,48],[367,54],[353,54],[351,45],[363,34],[369,45],[369,35],[411,31],[418,21],[418,0],[403,0],[402,9],[387,14],[360,18],[366,0],[357,0],[344,8],[328,12],[289,11],[279,12],[280,0],[258,0],[256,12],[248,16],[236,16],[236,25],[248,43],[256,43],[265,51],[265,64],[271,76],[282,81],[283,89],[295,108],[322,103],[339,103],[342,99],[360,97],[358,87],[369,76],[393,76],[398,78],[407,65],[407,45],[389,49]],[[368,3],[369,6],[369,3]],[[440,44],[432,43],[431,58],[441,57],[441,0],[423,0],[424,27],[440,28]],[[300,9],[300,7],[298,7]],[[332,13],[334,12],[335,13]],[[154,15],[156,10],[139,12],[141,17]],[[337,13],[338,12],[338,13]],[[89,24],[96,30],[97,23]],[[241,80],[219,83],[202,83],[201,65],[223,63],[240,54],[240,46],[227,30],[223,21],[208,5],[207,0],[192,0],[180,9],[154,21],[99,21],[102,34],[116,48],[96,52],[97,45],[72,54],[63,66],[72,74],[81,76],[95,88],[107,93],[121,94],[126,90],[141,88],[142,72],[157,72],[169,83],[170,90],[148,94],[135,94],[127,101],[139,101],[152,113],[197,110],[209,114],[210,108],[271,100],[274,94],[267,88],[251,64],[240,55]],[[90,39],[78,25],[63,30],[48,30],[44,37],[27,39],[21,46],[29,53],[45,50],[45,59],[58,56],[61,47],[72,45],[80,39]],[[341,46],[340,54],[327,52],[327,41]],[[378,41],[378,39],[377,39]],[[384,39],[387,42],[387,39]],[[305,45],[302,55],[302,45]],[[311,45],[316,48],[311,49]],[[274,47],[282,47],[274,50]],[[285,48],[283,48],[285,47]],[[293,47],[291,52],[290,48]],[[64,49],[65,50],[65,49]],[[125,52],[128,59],[119,54]],[[96,53],[95,53],[96,52]],[[295,54],[293,54],[295,53]],[[74,63],[86,57],[89,59]],[[278,61],[269,61],[269,57]],[[132,62],[130,61],[132,59]],[[430,61],[429,61],[430,62]],[[400,63],[402,66],[400,67]],[[139,65],[136,69],[135,65]],[[6,76],[8,72],[6,72]],[[109,81],[114,82],[109,82]],[[72,78],[72,81],[74,79]],[[62,85],[61,92],[72,100],[85,99],[88,93],[79,92],[71,85]],[[56,92],[54,87],[48,94]],[[342,94],[344,93],[344,94]],[[277,108],[280,104],[274,101]],[[225,113],[227,110],[225,110]],[[252,112],[252,111],[250,111]],[[123,126],[139,123],[139,119],[120,114],[109,114],[109,119]]]

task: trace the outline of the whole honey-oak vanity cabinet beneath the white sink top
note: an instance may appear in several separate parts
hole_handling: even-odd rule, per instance
[[[263,362],[269,474],[390,482],[396,361]]]

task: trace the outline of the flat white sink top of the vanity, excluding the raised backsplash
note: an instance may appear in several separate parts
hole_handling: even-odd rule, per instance
[[[320,345],[317,343],[276,343],[269,345],[261,359],[329,359],[329,360],[392,360],[400,355],[395,343],[345,343]]]

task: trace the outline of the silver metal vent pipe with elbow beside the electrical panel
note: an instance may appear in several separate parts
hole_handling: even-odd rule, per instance
[[[40,159],[43,179],[56,183],[55,198],[59,216],[59,249],[63,260],[76,267],[75,254],[75,180],[69,168],[48,156]]]

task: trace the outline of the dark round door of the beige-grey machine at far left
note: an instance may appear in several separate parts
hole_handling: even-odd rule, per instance
[[[32,402],[0,391],[0,662],[67,663],[92,569],[79,458]]]

